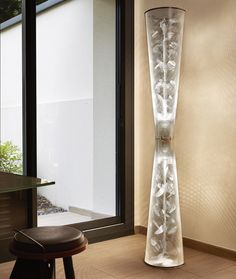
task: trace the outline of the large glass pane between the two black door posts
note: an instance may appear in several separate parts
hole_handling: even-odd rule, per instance
[[[115,208],[115,0],[63,2],[37,16],[38,224]]]

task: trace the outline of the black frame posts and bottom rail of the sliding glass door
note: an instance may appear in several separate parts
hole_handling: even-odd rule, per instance
[[[37,176],[36,10],[23,0],[23,163]],[[72,226],[91,242],[134,233],[134,0],[116,0],[116,204],[117,216]],[[28,191],[28,224],[37,225],[36,191]]]

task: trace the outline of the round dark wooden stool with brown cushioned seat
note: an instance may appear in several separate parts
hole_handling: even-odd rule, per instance
[[[17,256],[10,279],[55,278],[56,258],[63,258],[66,279],[75,279],[71,256],[85,250],[86,245],[83,233],[68,226],[19,231],[10,246]]]

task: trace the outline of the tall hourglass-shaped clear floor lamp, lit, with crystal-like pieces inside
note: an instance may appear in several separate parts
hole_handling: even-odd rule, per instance
[[[174,7],[145,12],[156,140],[145,262],[160,267],[184,263],[176,161],[171,148],[184,15],[183,9]]]

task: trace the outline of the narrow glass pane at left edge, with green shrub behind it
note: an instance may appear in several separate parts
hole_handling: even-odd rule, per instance
[[[18,23],[1,30],[0,170],[14,173],[22,173],[21,29]]]

